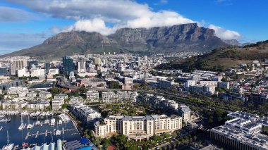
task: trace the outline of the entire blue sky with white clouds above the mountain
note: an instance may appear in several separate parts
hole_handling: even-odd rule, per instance
[[[257,42],[268,37],[267,0],[3,0],[0,55],[41,44],[59,32],[109,35],[120,27],[198,23],[221,39]]]

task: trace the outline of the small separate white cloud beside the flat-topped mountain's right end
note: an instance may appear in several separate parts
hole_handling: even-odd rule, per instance
[[[209,25],[209,28],[215,30],[215,34],[221,39],[240,39],[242,37],[238,32],[226,30],[224,27]]]

